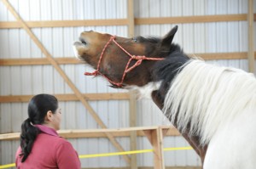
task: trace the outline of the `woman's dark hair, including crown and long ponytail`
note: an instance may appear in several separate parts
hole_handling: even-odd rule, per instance
[[[32,150],[32,145],[40,133],[35,124],[43,124],[45,115],[49,110],[55,113],[58,109],[58,100],[53,95],[38,94],[34,96],[27,109],[28,118],[23,121],[20,133],[20,147],[21,154],[23,155],[21,162],[26,161],[27,156]]]

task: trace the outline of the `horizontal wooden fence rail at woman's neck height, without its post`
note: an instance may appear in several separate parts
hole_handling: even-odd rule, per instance
[[[168,131],[165,136],[181,136],[174,127],[160,127],[163,131]],[[152,133],[156,127],[130,127],[120,129],[86,129],[86,130],[59,130],[58,133],[62,138],[108,138],[106,132],[111,132],[113,137],[130,137],[131,132],[136,132],[138,137],[145,137],[145,131]],[[20,138],[20,132],[2,133],[0,134],[1,140],[17,140]]]

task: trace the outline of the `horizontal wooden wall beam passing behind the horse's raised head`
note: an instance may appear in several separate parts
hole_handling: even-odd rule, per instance
[[[256,52],[254,59],[256,59]],[[189,56],[201,57],[205,60],[212,59],[247,59],[247,52],[241,53],[208,53],[208,54],[188,54]],[[86,64],[83,60],[74,57],[55,58],[57,64],[70,65],[70,64]],[[26,59],[0,59],[0,65],[50,65],[46,58],[26,58]]]

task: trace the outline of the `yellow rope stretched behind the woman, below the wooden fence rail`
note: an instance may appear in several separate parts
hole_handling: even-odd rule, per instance
[[[174,151],[174,150],[185,150],[192,149],[192,147],[174,147],[174,148],[165,148],[164,151]],[[80,159],[84,158],[93,158],[93,157],[102,157],[102,156],[113,156],[113,155],[132,155],[132,154],[140,154],[140,153],[148,153],[153,152],[153,149],[142,149],[142,150],[134,150],[134,151],[124,151],[124,152],[116,152],[116,153],[102,153],[102,154],[94,154],[94,155],[79,155]],[[15,163],[2,165],[2,168],[10,168],[15,166]]]

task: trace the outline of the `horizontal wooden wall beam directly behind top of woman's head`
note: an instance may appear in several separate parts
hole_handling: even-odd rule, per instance
[[[59,101],[79,101],[75,94],[54,94]],[[0,96],[0,103],[28,102],[33,95]],[[129,100],[129,93],[84,93],[83,98],[88,101],[100,100]]]

